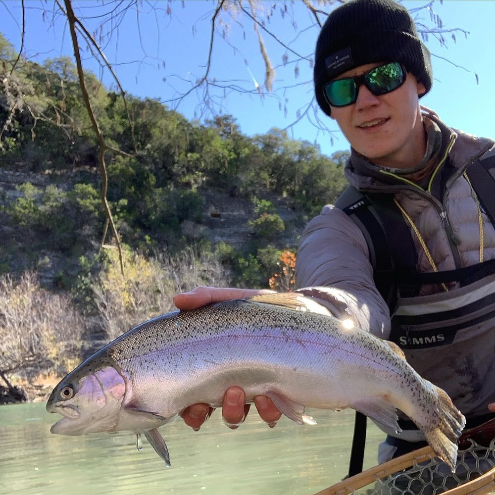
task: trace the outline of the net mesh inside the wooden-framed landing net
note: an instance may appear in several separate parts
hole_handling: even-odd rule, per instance
[[[437,495],[457,488],[495,466],[495,439],[490,446],[480,446],[470,440],[471,446],[459,450],[455,473],[439,459],[431,459],[400,471],[387,478],[377,479],[373,485],[353,491],[366,495]],[[492,489],[493,490],[493,489]],[[486,491],[483,493],[494,493]]]

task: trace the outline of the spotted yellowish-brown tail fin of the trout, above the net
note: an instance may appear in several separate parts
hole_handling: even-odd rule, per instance
[[[450,397],[440,388],[436,388],[440,398],[440,421],[436,428],[424,431],[426,440],[434,452],[448,465],[452,473],[457,461],[457,442],[466,418],[452,404]]]

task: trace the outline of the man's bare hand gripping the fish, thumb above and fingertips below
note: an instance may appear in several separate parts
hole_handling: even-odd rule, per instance
[[[258,296],[261,294],[272,294],[274,291],[257,289],[230,289],[217,287],[197,287],[191,292],[177,294],[174,297],[174,304],[179,309],[196,309],[211,302],[221,302],[230,299],[242,299],[244,297]],[[254,405],[261,416],[261,419],[273,428],[282,416],[275,404],[269,397],[254,397]],[[193,404],[187,407],[182,413],[184,422],[194,430],[199,430],[200,426],[211,416],[213,408],[205,403]],[[225,393],[222,404],[222,418],[224,423],[235,430],[245,420],[249,404],[246,404],[246,394],[240,387],[231,387]]]

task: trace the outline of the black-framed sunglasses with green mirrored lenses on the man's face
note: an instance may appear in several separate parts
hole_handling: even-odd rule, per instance
[[[323,93],[332,106],[347,106],[356,102],[362,84],[375,96],[386,95],[404,84],[406,68],[398,62],[379,65],[356,77],[330,81],[323,86]]]

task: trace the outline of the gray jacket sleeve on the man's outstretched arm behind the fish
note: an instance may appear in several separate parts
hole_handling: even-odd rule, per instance
[[[325,206],[308,223],[297,250],[296,284],[336,316],[344,310],[358,327],[389,337],[389,309],[373,282],[368,246],[340,209]]]

